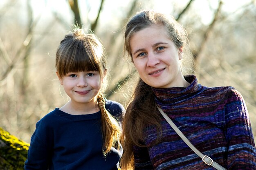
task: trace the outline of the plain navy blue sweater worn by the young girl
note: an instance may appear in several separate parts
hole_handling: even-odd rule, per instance
[[[111,115],[121,118],[124,107],[106,100]],[[102,153],[101,112],[70,115],[58,108],[36,124],[25,170],[117,170],[122,149]]]

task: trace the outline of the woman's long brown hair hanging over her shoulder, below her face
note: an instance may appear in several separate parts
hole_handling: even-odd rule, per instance
[[[159,124],[159,114],[157,114],[154,95],[151,86],[139,79],[137,86],[132,94],[130,103],[126,108],[123,121],[123,133],[121,144],[124,154],[121,157],[120,166],[124,170],[133,169],[133,145],[145,147],[144,128],[148,125],[155,125],[161,131]]]

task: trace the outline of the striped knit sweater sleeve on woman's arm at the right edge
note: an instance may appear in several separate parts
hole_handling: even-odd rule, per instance
[[[245,101],[230,88],[225,103],[228,170],[256,170],[256,149]]]

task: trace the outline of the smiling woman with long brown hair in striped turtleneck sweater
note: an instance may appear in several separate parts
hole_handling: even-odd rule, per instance
[[[157,106],[204,155],[228,170],[256,170],[245,101],[232,87],[209,88],[183,72],[186,31],[173,18],[141,11],[126,25],[125,51],[139,73],[127,106],[121,168],[213,170],[177,135]],[[183,61],[181,63],[181,61]]]

